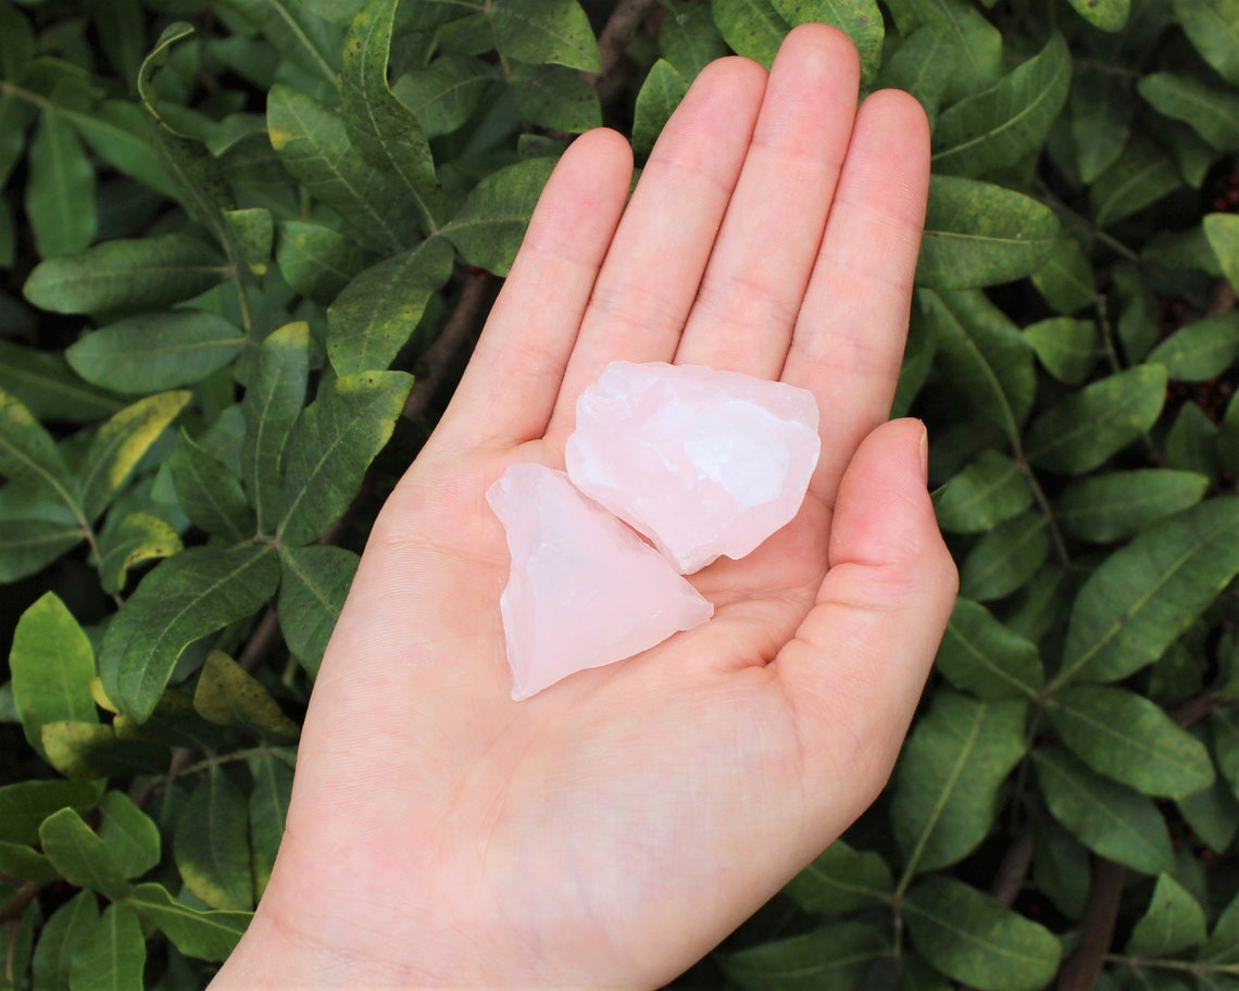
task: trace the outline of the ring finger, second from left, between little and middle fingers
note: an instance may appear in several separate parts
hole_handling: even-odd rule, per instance
[[[663,129],[598,275],[551,434],[566,436],[577,395],[610,362],[675,356],[764,87],[755,62],[712,62]]]

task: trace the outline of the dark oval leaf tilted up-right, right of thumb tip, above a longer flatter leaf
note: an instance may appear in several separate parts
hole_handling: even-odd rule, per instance
[[[1166,369],[1140,364],[1072,393],[1033,420],[1028,461],[1080,474],[1101,465],[1147,431],[1166,401]]]

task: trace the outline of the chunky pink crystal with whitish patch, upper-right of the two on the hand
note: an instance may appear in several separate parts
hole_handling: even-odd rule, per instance
[[[684,575],[743,557],[799,510],[818,404],[781,382],[701,365],[613,362],[581,393],[572,483]]]

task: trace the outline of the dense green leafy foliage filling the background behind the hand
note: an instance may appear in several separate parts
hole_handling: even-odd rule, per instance
[[[934,124],[896,413],[963,597],[680,984],[1239,987],[1239,0],[0,0],[0,989],[204,984],[555,155],[809,20]]]

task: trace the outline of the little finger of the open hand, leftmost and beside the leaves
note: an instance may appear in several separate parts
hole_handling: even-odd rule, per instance
[[[508,447],[546,430],[631,176],[615,131],[564,152],[434,443]]]

